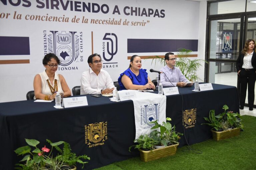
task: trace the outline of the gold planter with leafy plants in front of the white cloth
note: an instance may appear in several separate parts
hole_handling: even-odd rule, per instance
[[[170,118],[166,118],[166,120],[171,121]],[[176,132],[175,126],[172,127],[170,122],[163,122],[162,125],[159,125],[157,121],[154,123],[155,126],[151,129],[156,130],[152,131],[149,136],[141,135],[138,139],[134,140],[134,142],[138,142],[138,144],[133,146],[138,148],[140,151],[140,158],[144,162],[176,154],[179,145],[178,140],[180,139],[180,135],[183,135],[182,133]],[[141,142],[141,139],[143,139],[144,143],[147,143],[148,147],[146,149],[142,147],[143,142]],[[156,148],[157,145],[163,147]]]

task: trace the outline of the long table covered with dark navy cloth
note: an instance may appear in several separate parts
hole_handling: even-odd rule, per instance
[[[210,127],[201,125],[210,110],[222,113],[222,106],[226,104],[229,110],[239,112],[236,87],[212,85],[214,90],[193,92],[193,87],[183,87],[178,88],[180,94],[167,96],[166,117],[172,118],[176,131],[184,133],[179,146],[212,137]],[[0,103],[0,170],[13,169],[22,159],[14,150],[27,145],[25,138],[39,140],[39,147],[47,145],[46,139],[70,143],[77,155],[91,157],[85,169],[138,156],[137,150],[128,151],[135,137],[133,102],[84,96],[88,106],[64,109],[55,109],[54,102],[34,100]],[[103,132],[92,139],[95,127]]]

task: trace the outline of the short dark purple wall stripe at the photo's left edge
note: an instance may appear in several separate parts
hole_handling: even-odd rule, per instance
[[[0,55],[30,55],[29,37],[0,36]]]

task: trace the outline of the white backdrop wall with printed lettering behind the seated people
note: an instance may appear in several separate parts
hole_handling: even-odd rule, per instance
[[[48,2],[49,7],[47,7]],[[51,3],[53,4],[52,6]],[[67,4],[66,10],[63,9],[61,3],[64,3],[63,5]],[[73,10],[70,3],[73,5]],[[75,6],[78,10],[82,9],[82,3],[86,5],[90,4],[91,12],[75,11]],[[111,57],[107,52],[108,42],[111,52],[111,40],[114,46],[112,53],[116,53],[113,55],[111,61],[106,61],[102,57],[103,66],[105,67],[104,69],[110,73],[112,80],[117,81],[119,74],[128,68],[129,60],[127,56],[134,54],[140,56],[164,55],[166,52],[169,52],[128,53],[127,39],[198,40],[199,37],[199,2],[185,0],[97,0],[82,1],[82,3],[78,0],[0,0],[0,37],[29,38],[29,54],[11,54],[11,51],[9,55],[6,55],[0,52],[0,60],[29,59],[29,63],[24,64],[0,64],[0,102],[26,100],[26,93],[33,90],[34,76],[44,70],[42,64],[43,56],[45,53],[51,51],[55,53],[58,52],[58,54],[56,53],[58,57],[67,64],[66,66],[60,65],[57,73],[65,77],[69,88],[72,89],[72,87],[80,85],[82,72],[89,68],[87,58],[92,53],[92,50],[94,53],[99,53],[103,56],[105,47],[106,58],[109,59]],[[99,6],[105,6],[103,7],[104,11],[106,11],[106,6],[108,6],[109,11],[106,14],[101,11],[92,12],[93,3]],[[59,5],[57,6],[56,4]],[[51,9],[51,7],[53,7],[53,9]],[[59,9],[56,9],[56,7]],[[120,14],[118,14],[118,12],[113,14],[115,7],[118,7]],[[135,13],[133,13],[133,15],[131,15],[131,7],[133,7],[133,9],[137,7],[137,10],[140,8],[140,14],[143,8],[145,8],[147,14],[144,13],[143,16],[138,16],[137,14],[137,16],[135,16]],[[97,10],[97,7],[95,9]],[[156,13],[158,10],[159,17],[157,15],[154,17],[154,14],[146,16],[149,14],[148,9],[152,9],[153,13]],[[16,18],[14,19],[15,11]],[[8,18],[6,18],[7,13],[10,14]],[[125,15],[125,13],[130,14]],[[18,14],[20,14],[18,16],[19,19],[17,19]],[[31,17],[31,15],[40,15],[41,17],[63,17],[63,15],[65,15],[65,19],[69,20],[68,22],[38,21],[33,18],[30,19],[29,17]],[[80,20],[75,23],[72,22],[74,16],[76,16],[76,19],[79,18]],[[88,23],[82,23],[83,17],[88,19]],[[93,24],[91,23],[92,19],[121,20],[121,24]],[[125,20],[130,22],[129,25],[123,25]],[[144,26],[132,26],[132,22],[145,22],[145,24]],[[57,31],[57,34],[51,31]],[[72,36],[70,32],[76,33]],[[103,40],[106,33],[116,35],[117,50],[115,48],[116,39],[114,35],[106,36],[106,38],[109,39]],[[59,37],[57,35],[59,35]],[[58,40],[58,38],[61,37],[69,37],[70,39]],[[71,43],[72,39],[74,39],[73,44]],[[56,46],[52,46],[51,49],[51,45],[53,45],[54,42],[56,42]],[[70,47],[65,44],[68,44]],[[1,46],[5,48],[5,42],[1,42]],[[183,46],[181,45],[180,47]],[[13,47],[13,50],[15,49],[17,48]],[[66,51],[69,54],[66,60],[60,57],[62,51]],[[197,51],[195,51],[194,54],[197,54]],[[106,68],[107,66],[108,68]],[[162,66],[159,64],[156,66],[151,65],[150,59],[142,60],[142,68],[147,69],[148,72],[150,68],[158,70],[161,67]],[[155,79],[157,74],[149,72],[149,76],[151,79]]]

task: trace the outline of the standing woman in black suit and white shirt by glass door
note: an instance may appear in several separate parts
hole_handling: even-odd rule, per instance
[[[244,49],[236,60],[236,70],[240,80],[240,109],[244,109],[248,84],[249,110],[253,110],[254,85],[256,80],[256,46],[253,39],[245,42]]]

